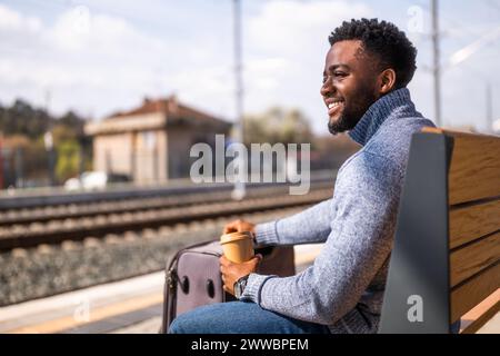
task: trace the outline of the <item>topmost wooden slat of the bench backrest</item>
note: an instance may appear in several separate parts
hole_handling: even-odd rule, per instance
[[[449,204],[500,196],[500,140],[481,135],[449,135],[453,137]]]

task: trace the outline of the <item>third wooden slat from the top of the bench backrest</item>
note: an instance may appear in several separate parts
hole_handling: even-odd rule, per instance
[[[450,254],[450,285],[472,277],[500,260],[500,231]]]

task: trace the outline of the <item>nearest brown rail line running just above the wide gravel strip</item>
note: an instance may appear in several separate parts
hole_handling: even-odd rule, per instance
[[[32,215],[33,219],[28,216],[22,225],[14,224],[8,228],[3,226],[0,229],[0,251],[13,248],[30,248],[41,244],[60,244],[64,240],[83,240],[88,237],[102,238],[110,234],[119,235],[126,231],[140,231],[147,228],[217,219],[248,212],[307,206],[330,198],[331,182],[328,186],[329,188],[316,187],[303,196],[277,194],[276,188],[267,188],[268,190],[251,192],[250,198],[242,201],[228,201],[222,199],[223,197],[218,192],[208,198],[204,198],[204,195],[186,200],[181,198],[187,204],[180,206],[174,204],[173,200],[167,202],[160,199],[150,202],[142,201],[142,206],[136,201],[124,209],[118,207],[114,210],[107,210],[101,206],[93,210],[74,210],[73,214],[69,215],[67,211],[61,211],[59,218],[56,218],[57,214],[47,217]],[[201,202],[207,200],[209,202]],[[148,204],[150,205],[147,206]],[[18,221],[22,219],[18,219]]]

